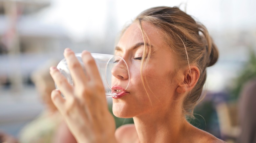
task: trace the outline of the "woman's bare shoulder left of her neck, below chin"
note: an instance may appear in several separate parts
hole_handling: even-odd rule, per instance
[[[125,124],[117,128],[115,136],[118,143],[136,143],[139,137],[134,124]]]

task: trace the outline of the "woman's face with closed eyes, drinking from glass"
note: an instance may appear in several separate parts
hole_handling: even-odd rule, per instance
[[[115,55],[125,59],[130,71],[130,84],[125,93],[113,98],[113,113],[117,117],[131,118],[155,111],[169,110],[176,93],[178,81],[174,76],[177,76],[177,65],[175,65],[177,62],[170,47],[164,41],[164,34],[147,22],[143,22],[142,26],[152,49],[151,56],[147,57],[149,61],[142,71],[145,88],[140,74],[144,42],[138,24],[133,23],[127,28],[115,49]],[[127,82],[128,79],[119,78],[118,80],[119,85],[115,86],[122,87],[122,82]]]

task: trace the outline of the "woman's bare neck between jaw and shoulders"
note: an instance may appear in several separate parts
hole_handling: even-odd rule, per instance
[[[141,143],[181,142],[185,128],[189,124],[182,111],[170,107],[161,111],[152,111],[133,118]]]

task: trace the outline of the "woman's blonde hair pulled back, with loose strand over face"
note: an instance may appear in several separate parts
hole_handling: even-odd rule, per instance
[[[149,43],[147,34],[142,27],[143,21],[153,24],[166,34],[165,40],[178,57],[181,66],[190,67],[190,64],[195,64],[201,69],[196,86],[186,95],[182,105],[184,115],[193,118],[194,108],[198,103],[206,80],[205,69],[214,65],[219,57],[216,45],[213,43],[205,26],[196,22],[178,7],[149,8],[136,17],[133,22],[139,24],[144,43]],[[148,45],[145,44],[144,46],[142,63],[144,62],[146,51],[150,54],[151,47]],[[145,85],[143,86],[145,87]]]

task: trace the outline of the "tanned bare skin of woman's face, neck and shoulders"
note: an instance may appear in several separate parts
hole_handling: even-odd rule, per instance
[[[140,74],[141,60],[137,60],[144,46],[132,48],[143,42],[137,24],[131,24],[124,32],[115,53],[122,56],[129,66],[130,85],[126,90],[127,95],[113,99],[113,113],[121,118],[133,117],[135,123],[117,129],[117,142],[223,142],[186,121],[182,112],[185,93],[181,85],[184,85],[187,69],[179,66],[177,57],[165,43],[160,29],[146,22],[142,26],[153,51],[142,71],[146,79],[145,88]],[[199,72],[197,67],[193,68]],[[193,80],[196,83],[198,77]]]

